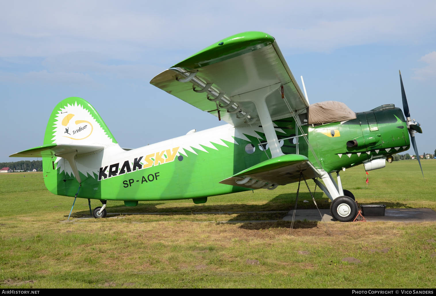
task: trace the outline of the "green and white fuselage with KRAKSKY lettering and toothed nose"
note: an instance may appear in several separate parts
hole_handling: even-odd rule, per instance
[[[354,120],[303,125],[302,130],[292,117],[273,122],[284,154],[305,155],[316,168],[334,172],[409,149],[402,111],[376,109],[357,113]],[[347,147],[354,139],[357,147]],[[132,150],[114,144],[76,157],[82,179],[79,197],[169,200],[249,190],[219,182],[271,158],[268,148],[259,123],[238,128],[225,124]],[[43,161],[47,188],[74,196],[78,182],[68,161],[58,158],[55,170],[50,158]]]

